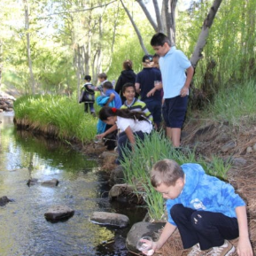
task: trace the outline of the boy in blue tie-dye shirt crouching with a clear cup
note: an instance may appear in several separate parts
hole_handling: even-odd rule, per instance
[[[206,175],[198,164],[179,166],[174,160],[157,162],[151,170],[151,184],[167,199],[168,220],[157,250],[176,228],[189,256],[222,256],[235,252],[229,240],[239,237],[237,254],[252,256],[246,206],[234,188]]]

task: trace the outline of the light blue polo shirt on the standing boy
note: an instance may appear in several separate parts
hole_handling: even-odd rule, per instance
[[[176,50],[176,47],[172,46],[164,57],[159,58],[159,66],[162,74],[164,98],[180,95],[187,79],[185,71],[191,66],[190,60],[182,50]]]

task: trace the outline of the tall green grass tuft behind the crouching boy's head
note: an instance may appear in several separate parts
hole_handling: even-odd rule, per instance
[[[196,157],[195,152],[189,149],[175,150],[167,137],[158,132],[153,132],[144,141],[138,141],[135,151],[125,153],[126,157],[121,163],[125,181],[135,186],[136,193],[144,198],[151,220],[157,221],[163,220],[165,206],[162,195],[151,186],[150,172],[154,163],[160,159],[174,159],[180,165],[198,163],[208,175],[221,179],[226,178],[229,170],[229,166],[225,166],[222,159],[213,157],[213,161],[207,162],[201,157]]]

